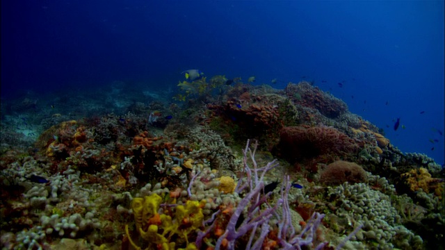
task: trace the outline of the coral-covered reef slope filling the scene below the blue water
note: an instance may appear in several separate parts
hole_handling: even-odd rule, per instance
[[[2,99],[2,249],[444,249],[442,166],[310,83],[226,81]]]

